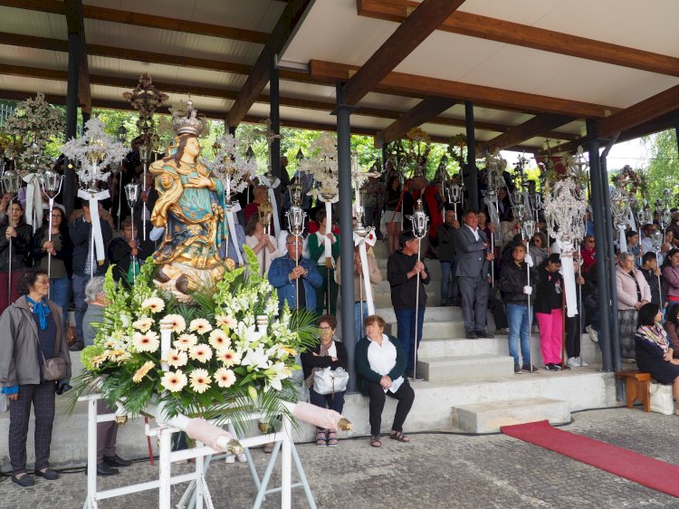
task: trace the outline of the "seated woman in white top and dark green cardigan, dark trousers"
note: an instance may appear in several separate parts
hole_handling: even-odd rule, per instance
[[[389,438],[399,442],[410,442],[410,437],[403,434],[403,423],[415,400],[415,392],[405,376],[406,356],[398,340],[384,333],[384,326],[385,321],[381,317],[368,316],[367,336],[356,345],[359,390],[370,398],[368,411],[372,447],[382,447],[379,433],[387,394],[398,400]]]

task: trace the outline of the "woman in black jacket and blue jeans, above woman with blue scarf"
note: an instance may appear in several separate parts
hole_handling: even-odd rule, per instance
[[[71,298],[71,275],[73,243],[69,235],[68,224],[63,210],[54,206],[52,218],[45,216],[43,226],[33,235],[33,260],[50,274],[50,300],[62,308],[62,323],[68,323],[68,307]],[[48,226],[50,225],[50,226]],[[52,241],[49,240],[49,230],[52,228]],[[50,256],[52,254],[52,260]],[[48,268],[50,265],[51,268]]]

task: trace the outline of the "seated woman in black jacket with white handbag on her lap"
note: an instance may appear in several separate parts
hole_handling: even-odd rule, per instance
[[[345,390],[339,390],[330,394],[319,394],[313,387],[313,376],[316,371],[330,368],[334,371],[338,368],[347,370],[349,357],[347,349],[339,341],[333,340],[337,320],[330,314],[325,314],[319,318],[320,342],[313,350],[305,351],[301,354],[301,368],[304,370],[309,388],[309,399],[312,405],[320,408],[330,408],[339,414],[344,408]],[[337,429],[318,428],[316,434],[316,445],[319,447],[336,447],[338,445]]]

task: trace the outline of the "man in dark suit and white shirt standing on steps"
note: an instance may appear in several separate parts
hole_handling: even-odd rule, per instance
[[[485,331],[488,309],[488,237],[479,228],[478,212],[468,210],[464,225],[455,230],[455,277],[462,301],[464,331],[469,340],[492,338]]]

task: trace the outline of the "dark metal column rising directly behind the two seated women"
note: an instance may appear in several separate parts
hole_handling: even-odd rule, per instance
[[[351,127],[350,116],[354,110],[345,102],[344,83],[337,83],[337,108],[333,112],[337,116],[337,154],[339,166],[339,245],[341,263],[349,268],[354,260],[354,226],[351,211]],[[342,342],[349,354],[349,392],[356,391],[356,368],[354,367],[354,351],[356,350],[354,318],[354,271],[343,270],[340,282],[342,303]]]

